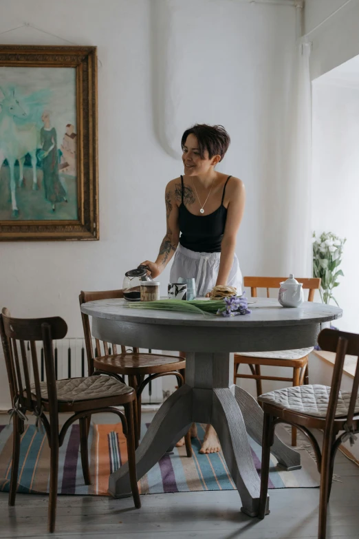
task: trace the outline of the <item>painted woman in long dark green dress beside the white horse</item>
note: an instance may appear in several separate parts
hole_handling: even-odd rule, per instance
[[[40,142],[43,153],[43,183],[45,187],[45,198],[52,204],[52,211],[55,211],[56,202],[67,202],[66,192],[58,176],[58,151],[56,140],[56,129],[51,127],[50,112],[44,111],[41,116],[43,127],[40,131]]]

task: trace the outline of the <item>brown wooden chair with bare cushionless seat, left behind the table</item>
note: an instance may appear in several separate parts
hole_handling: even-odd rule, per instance
[[[80,306],[83,303],[93,302],[98,299],[120,299],[123,297],[122,290],[107,290],[103,292],[83,292],[81,291],[79,300]],[[184,383],[184,372],[186,368],[186,360],[182,357],[173,357],[160,354],[140,353],[138,348],[131,347],[128,350],[127,346],[121,345],[121,352],[118,353],[116,344],[111,344],[112,354],[109,354],[109,344],[103,342],[103,353],[101,343],[96,341],[96,350],[93,350],[91,329],[89,317],[81,312],[83,319],[83,330],[85,334],[85,345],[87,351],[87,362],[89,374],[102,372],[111,374],[112,376],[120,377],[124,381],[124,376],[129,377],[129,385],[136,392],[136,408],[135,423],[137,432],[135,435],[135,446],[138,447],[138,440],[141,436],[141,396],[146,385],[162,376],[173,375],[177,377],[178,387]],[[147,376],[147,378],[145,378]],[[185,436],[187,456],[192,456],[191,435],[188,432]]]

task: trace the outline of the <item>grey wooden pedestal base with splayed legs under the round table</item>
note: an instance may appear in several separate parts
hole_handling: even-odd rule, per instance
[[[136,451],[137,474],[138,479],[144,476],[167,448],[184,436],[191,423],[210,423],[215,427],[226,464],[241,496],[241,511],[257,516],[260,480],[248,434],[261,444],[263,412],[248,392],[228,383],[230,372],[229,354],[188,353],[186,384],[168,397],[155,414]],[[272,453],[286,469],[301,467],[300,454],[277,436]],[[111,474],[109,493],[116,498],[131,493],[127,464]]]

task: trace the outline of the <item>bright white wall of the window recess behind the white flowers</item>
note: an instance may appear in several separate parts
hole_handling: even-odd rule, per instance
[[[359,332],[359,63],[358,86],[340,85],[340,70],[313,83],[312,228],[347,237],[340,286],[334,295],[343,309],[335,326]],[[333,80],[332,80],[333,79]]]

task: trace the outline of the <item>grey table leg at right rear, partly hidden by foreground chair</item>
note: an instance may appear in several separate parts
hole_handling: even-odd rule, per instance
[[[235,386],[235,399],[241,408],[248,434],[259,445],[262,445],[263,410],[256,399],[238,385]],[[279,465],[286,470],[301,469],[301,454],[285,445],[276,435],[270,452],[274,454]]]

